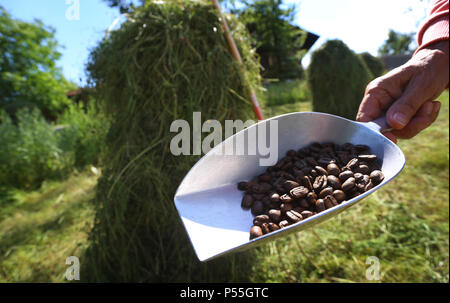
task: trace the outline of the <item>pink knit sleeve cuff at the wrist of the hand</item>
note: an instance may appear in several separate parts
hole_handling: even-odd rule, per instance
[[[417,51],[438,41],[449,39],[449,0],[437,0],[417,34]]]

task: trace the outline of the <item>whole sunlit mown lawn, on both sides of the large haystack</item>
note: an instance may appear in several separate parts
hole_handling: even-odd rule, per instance
[[[432,127],[399,143],[407,164],[395,180],[313,229],[256,248],[248,281],[449,282],[448,99],[440,97]],[[302,101],[265,106],[265,115],[306,110]],[[0,281],[65,281],[66,258],[87,245],[97,178],[87,169],[36,191],[0,189]],[[367,279],[368,257],[379,261],[379,280]]]

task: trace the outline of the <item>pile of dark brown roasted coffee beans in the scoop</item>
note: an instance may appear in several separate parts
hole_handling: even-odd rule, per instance
[[[254,215],[250,239],[332,208],[383,181],[381,163],[367,145],[313,143],[286,156],[251,181],[241,206]]]

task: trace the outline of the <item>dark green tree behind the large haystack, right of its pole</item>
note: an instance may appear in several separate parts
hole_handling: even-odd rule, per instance
[[[265,78],[292,79],[303,76],[300,51],[306,34],[291,23],[295,6],[284,8],[282,0],[243,1],[245,7],[236,11],[247,25],[258,53],[261,54]]]

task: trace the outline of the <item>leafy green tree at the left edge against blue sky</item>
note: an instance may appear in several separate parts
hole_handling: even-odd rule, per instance
[[[0,109],[37,106],[48,119],[63,111],[70,102],[65,93],[74,85],[55,64],[57,48],[52,28],[14,20],[0,6]]]

